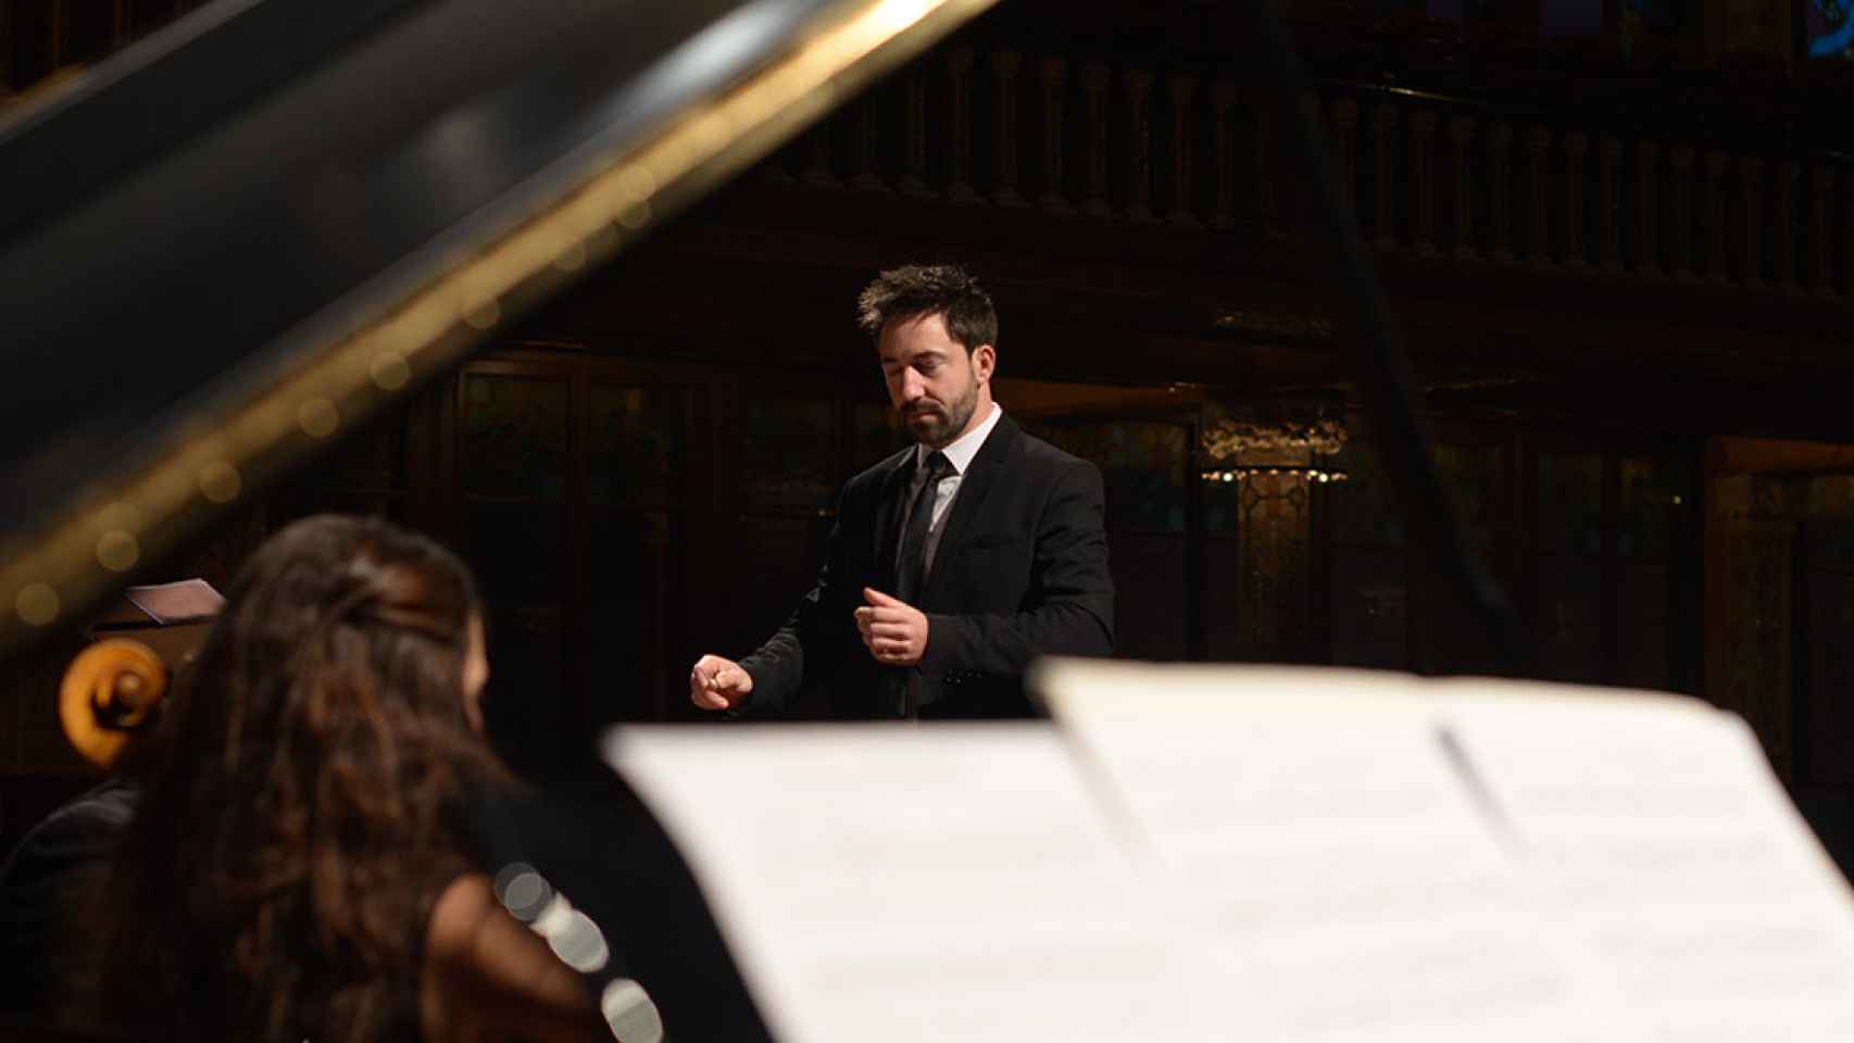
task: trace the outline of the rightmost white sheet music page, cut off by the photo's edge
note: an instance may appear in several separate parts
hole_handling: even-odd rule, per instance
[[[1854,902],[1752,730],[1698,700],[1437,685],[1632,1039],[1854,1039]]]

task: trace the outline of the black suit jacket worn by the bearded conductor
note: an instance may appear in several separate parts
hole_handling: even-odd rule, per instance
[[[914,446],[851,478],[818,584],[792,619],[742,660],[751,713],[779,713],[831,685],[838,717],[901,717],[908,671],[923,717],[1020,717],[1023,669],[1038,654],[1105,656],[1114,647],[1101,472],[999,417],[960,476],[933,569],[914,598],[927,613],[918,667],[879,665],[857,634],[862,587],[895,593],[895,541]]]

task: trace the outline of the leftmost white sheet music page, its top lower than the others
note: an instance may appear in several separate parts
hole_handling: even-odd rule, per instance
[[[1048,724],[643,726],[606,758],[786,1043],[1277,1037]]]

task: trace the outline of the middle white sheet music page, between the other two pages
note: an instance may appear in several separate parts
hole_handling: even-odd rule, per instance
[[[1281,1039],[1607,1037],[1415,678],[1066,660],[1033,684]]]

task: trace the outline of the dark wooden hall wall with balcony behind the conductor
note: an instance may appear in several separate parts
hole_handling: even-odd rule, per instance
[[[15,85],[28,7],[0,6]],[[1854,443],[1854,159],[1808,102],[1828,74],[1300,30],[1524,671],[1704,693],[1821,806],[1854,795],[1841,515],[1752,509],[1754,476],[1791,471],[1708,456]],[[1374,463],[1346,302],[1238,48],[1213,4],[1007,4],[139,578],[226,582],[291,517],[382,511],[478,571],[519,763],[690,717],[693,656],[779,624],[831,493],[897,445],[857,289],[955,259],[997,298],[1005,408],[1109,476],[1124,654],[1491,669]],[[1211,409],[1309,395],[1350,426],[1322,461],[1344,482],[1203,478]],[[50,700],[74,641],[9,678],[0,832],[78,778]]]

